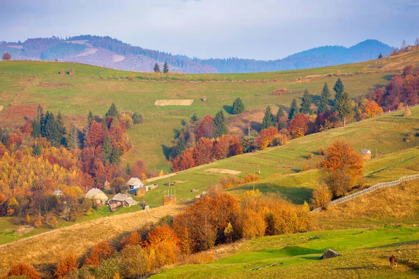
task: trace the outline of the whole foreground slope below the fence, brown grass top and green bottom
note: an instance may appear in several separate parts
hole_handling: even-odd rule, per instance
[[[316,232],[247,241],[235,255],[168,269],[152,278],[417,278],[418,190],[418,181],[376,190],[314,213],[311,229]],[[401,223],[407,226],[398,227]],[[342,256],[319,260],[327,248]],[[397,269],[388,267],[390,255],[397,257]],[[273,263],[277,265],[249,271]]]

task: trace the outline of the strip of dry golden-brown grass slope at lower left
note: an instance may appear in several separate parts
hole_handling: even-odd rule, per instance
[[[100,218],[4,244],[0,246],[0,276],[17,262],[32,264],[42,272],[43,267],[57,264],[59,259],[69,252],[74,252],[80,257],[100,241],[115,239],[121,234],[133,232],[147,223],[156,222],[163,216],[176,215],[183,208],[184,205],[172,204],[148,211]]]

